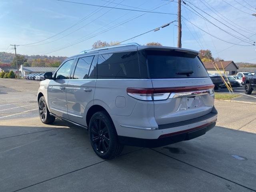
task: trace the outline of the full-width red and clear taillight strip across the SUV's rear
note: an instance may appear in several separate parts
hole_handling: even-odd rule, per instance
[[[181,96],[195,96],[196,94],[213,94],[214,85],[168,87],[168,88],[127,88],[127,94],[133,98],[144,101],[159,101]],[[201,92],[202,90],[208,92]],[[178,95],[178,93],[184,93]]]

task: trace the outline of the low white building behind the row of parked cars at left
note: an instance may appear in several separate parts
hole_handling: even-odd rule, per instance
[[[31,73],[45,73],[45,72],[52,72],[54,73],[58,67],[24,67],[23,65],[20,66],[19,72],[20,76],[24,77]]]

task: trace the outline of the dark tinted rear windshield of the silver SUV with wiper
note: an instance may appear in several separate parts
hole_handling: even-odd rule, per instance
[[[150,78],[209,77],[198,56],[177,51],[146,51]]]

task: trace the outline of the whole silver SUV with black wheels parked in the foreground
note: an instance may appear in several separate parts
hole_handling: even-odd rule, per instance
[[[127,44],[67,58],[40,82],[45,124],[60,118],[89,131],[101,158],[124,145],[159,147],[205,134],[217,120],[214,85],[198,52]]]

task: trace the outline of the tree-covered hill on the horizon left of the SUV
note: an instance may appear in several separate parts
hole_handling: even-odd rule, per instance
[[[46,56],[46,55],[24,55],[27,59],[28,62],[32,62],[33,60],[36,59],[41,59],[41,60],[54,60],[54,61],[64,61],[67,57],[60,57],[60,56]],[[6,52],[0,52],[0,63],[11,63],[13,58],[15,58],[14,53],[6,53]]]

